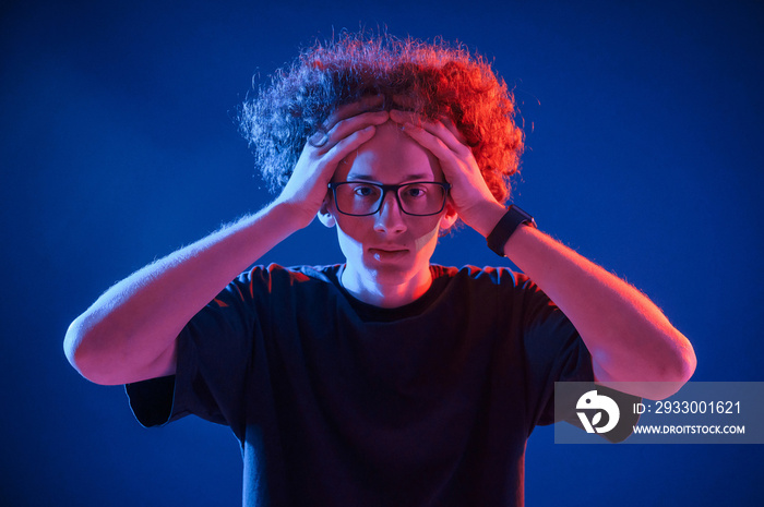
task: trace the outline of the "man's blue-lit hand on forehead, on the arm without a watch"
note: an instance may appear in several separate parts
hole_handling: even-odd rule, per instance
[[[382,100],[375,95],[337,108],[323,130],[308,138],[295,171],[276,198],[276,203],[294,206],[301,227],[307,227],[321,208],[337,165],[369,141],[377,125],[389,120],[387,111],[373,111]]]

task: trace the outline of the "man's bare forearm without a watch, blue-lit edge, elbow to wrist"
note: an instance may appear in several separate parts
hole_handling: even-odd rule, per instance
[[[174,373],[175,340],[183,326],[299,228],[288,205],[272,205],[140,269],[72,323],[64,339],[67,357],[98,384]]]

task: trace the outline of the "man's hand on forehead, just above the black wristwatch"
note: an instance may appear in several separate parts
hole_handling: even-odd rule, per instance
[[[493,197],[454,122],[445,118],[431,122],[395,109],[390,111],[390,119],[402,124],[406,134],[438,158],[451,183],[451,202],[456,213],[469,227],[488,236],[506,209]]]

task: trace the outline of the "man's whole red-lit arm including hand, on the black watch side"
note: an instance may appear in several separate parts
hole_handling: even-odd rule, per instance
[[[401,111],[391,111],[391,119],[438,157],[456,212],[488,237],[506,209],[454,124],[417,122]],[[592,353],[597,382],[635,383],[619,389],[662,399],[692,376],[696,359],[690,341],[634,287],[533,227],[518,227],[504,254],[571,319]]]

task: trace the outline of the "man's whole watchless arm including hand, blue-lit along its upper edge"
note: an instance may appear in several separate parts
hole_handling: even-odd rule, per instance
[[[226,285],[319,212],[337,164],[387,121],[385,111],[363,112],[369,98],[343,106],[327,120],[320,145],[307,143],[276,201],[134,273],[107,290],[74,319],[63,348],[86,378],[106,385],[170,375],[176,338]]]

